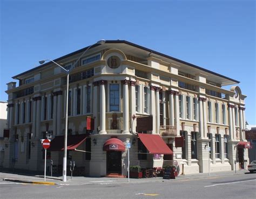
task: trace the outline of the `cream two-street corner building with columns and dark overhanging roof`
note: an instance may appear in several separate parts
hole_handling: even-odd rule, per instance
[[[68,69],[87,48],[54,61]],[[13,78],[19,86],[10,82],[6,91],[4,167],[43,170],[40,139],[46,132],[52,140],[48,157],[61,167],[66,74],[48,62]],[[128,41],[107,40],[91,46],[69,83],[68,159],[83,174],[126,175],[127,142],[130,165],[182,162],[185,173],[206,173],[209,162],[211,172],[245,167],[246,96],[238,86],[222,88],[236,80]],[[154,150],[159,137],[164,144],[158,141]],[[175,143],[179,137],[182,146]]]

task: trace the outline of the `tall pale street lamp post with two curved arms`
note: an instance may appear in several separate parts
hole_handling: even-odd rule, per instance
[[[96,44],[104,44],[105,40],[99,40]],[[93,46],[95,44],[92,44],[91,46]],[[82,58],[82,56],[91,48],[91,46],[87,47],[86,50],[83,52],[82,55],[79,56],[79,58],[77,59],[77,61],[72,65],[72,67],[70,69],[65,69],[64,67],[60,66],[58,63],[56,63],[55,61],[51,60],[51,59],[45,59],[45,60],[40,60],[39,63],[43,64],[45,61],[51,61],[53,63],[55,63],[58,67],[62,68],[65,73],[67,74],[66,76],[66,113],[65,113],[65,134],[64,134],[64,155],[63,155],[63,182],[66,182],[66,155],[67,155],[67,143],[68,143],[68,108],[69,108],[69,74],[71,72],[71,70],[73,68],[75,68],[77,62],[80,60],[80,58]]]

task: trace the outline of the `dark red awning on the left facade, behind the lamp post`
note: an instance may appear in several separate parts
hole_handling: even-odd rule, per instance
[[[86,134],[78,134],[74,136],[68,136],[67,150],[75,150],[86,139]],[[63,151],[64,150],[64,136],[56,136],[51,141],[50,151]]]

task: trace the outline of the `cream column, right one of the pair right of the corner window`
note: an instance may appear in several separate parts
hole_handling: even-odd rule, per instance
[[[134,80],[131,80],[130,81],[130,84],[131,84],[131,90],[130,90],[130,111],[131,111],[131,115],[130,115],[130,118],[131,118],[131,131],[133,133],[136,133],[136,124],[137,124],[137,120],[136,118],[133,118],[133,116],[136,116],[136,93],[135,93],[135,86],[137,85],[136,84],[136,81]]]

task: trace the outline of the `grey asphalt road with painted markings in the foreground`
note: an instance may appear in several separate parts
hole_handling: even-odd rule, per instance
[[[45,186],[0,181],[0,198],[256,198],[256,173],[160,182]]]

